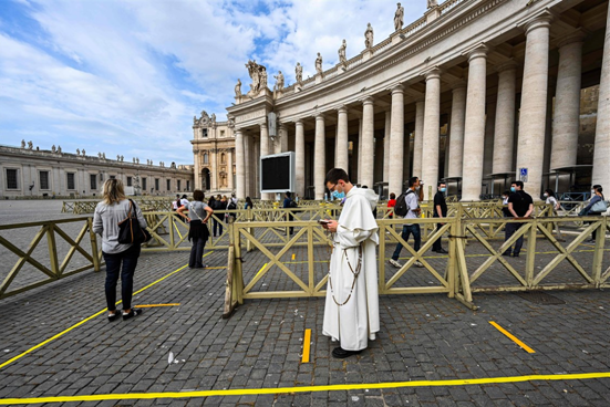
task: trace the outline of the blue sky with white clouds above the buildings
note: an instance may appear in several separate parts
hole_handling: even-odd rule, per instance
[[[405,24],[426,0],[403,1]],[[192,164],[193,116],[226,119],[245,63],[293,83],[393,31],[386,0],[0,0],[0,144]]]

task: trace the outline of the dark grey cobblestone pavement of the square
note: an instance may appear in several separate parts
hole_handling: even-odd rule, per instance
[[[49,216],[22,209],[30,220],[40,220],[32,213]],[[53,218],[59,218],[58,210],[53,210]],[[2,222],[7,222],[6,218]],[[500,243],[495,242],[494,247]],[[393,244],[386,248],[385,257],[390,257],[393,248]],[[536,258],[536,268],[542,268],[552,258],[551,249],[540,241],[536,251],[547,253]],[[378,340],[361,355],[337,361],[330,355],[335,345],[322,335],[323,299],[246,300],[231,319],[223,320],[227,252],[208,253],[206,263],[210,268],[203,271],[185,268],[188,255],[185,252],[143,254],[134,290],[144,290],[135,295],[135,304],[179,305],[148,307],[131,321],[108,323],[104,312],[92,317],[105,307],[103,271],[85,271],[0,301],[0,404],[13,397],[430,380],[414,387],[383,389],[343,387],[331,392],[238,393],[64,404],[610,406],[608,291],[551,292],[559,304],[539,304],[511,293],[475,294],[474,301],[479,306],[476,312],[445,294],[382,296]],[[487,259],[485,250],[475,243],[468,244],[466,254],[468,268]],[[401,261],[406,260],[406,251],[403,250],[402,255]],[[573,257],[587,269],[592,262],[592,248],[582,244]],[[268,262],[259,251],[246,253],[244,258],[246,279]],[[328,267],[327,250],[317,249],[314,258],[319,280]],[[294,248],[282,261],[304,279],[306,259],[304,249]],[[508,260],[519,273],[524,272],[525,259]],[[426,261],[443,270],[447,258],[430,253]],[[610,265],[608,252],[602,262],[604,269]],[[575,269],[564,263],[549,275],[549,282],[570,279],[582,282]],[[391,272],[387,269],[386,279]],[[397,286],[428,286],[433,281],[430,272],[412,268],[399,280]],[[487,286],[514,281],[496,263],[476,283]],[[293,289],[296,284],[277,268],[271,268],[254,288],[257,291]],[[489,324],[490,321],[535,353],[525,352]],[[311,362],[301,363],[307,328],[312,332]],[[50,338],[53,340],[45,342]],[[35,346],[39,347],[33,348]],[[20,355],[22,357],[6,364]],[[174,361],[168,363],[170,355]],[[587,379],[549,379],[559,374],[586,373],[607,375],[604,378],[598,375]],[[529,375],[544,375],[545,379],[515,378],[506,383],[495,379]],[[440,383],[475,378],[489,383],[453,386]]]

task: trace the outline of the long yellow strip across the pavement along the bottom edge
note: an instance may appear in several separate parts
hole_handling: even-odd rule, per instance
[[[261,394],[285,394],[285,393],[311,393],[311,392],[339,392],[339,390],[363,390],[383,389],[399,387],[442,387],[442,386],[469,386],[503,383],[523,383],[534,380],[586,380],[593,378],[610,378],[610,372],[598,373],[572,373],[565,375],[528,375],[506,376],[487,378],[465,378],[451,380],[413,380],[413,382],[390,382],[390,383],[362,383],[353,385],[328,385],[328,386],[300,386],[300,387],[277,387],[277,388],[236,388],[228,390],[196,390],[196,392],[167,392],[167,393],[124,393],[124,394],[101,394],[82,396],[53,396],[38,398],[4,398],[0,405],[14,404],[42,404],[42,403],[70,403],[70,401],[101,401],[101,400],[135,400],[155,398],[194,398],[214,396],[245,396]]]

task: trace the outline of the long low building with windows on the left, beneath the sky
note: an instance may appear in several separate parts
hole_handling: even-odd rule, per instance
[[[95,197],[108,178],[123,180],[128,195],[172,195],[192,191],[193,166],[165,167],[152,161],[132,163],[123,157],[86,156],[55,149],[39,149],[31,142],[21,148],[0,146],[0,199],[29,197]]]

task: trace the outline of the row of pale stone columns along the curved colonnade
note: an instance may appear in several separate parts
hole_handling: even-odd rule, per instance
[[[608,18],[608,17],[607,17]],[[445,73],[432,67],[422,73],[425,81],[425,93],[420,97],[407,93],[407,85],[397,83],[390,87],[390,106],[379,108],[379,95],[364,95],[359,106],[339,106],[327,112],[311,114],[314,117],[313,142],[313,187],[314,198],[324,195],[324,175],[333,165],[349,168],[348,121],[352,109],[361,109],[361,128],[358,146],[353,153],[361,152],[358,165],[358,181],[373,186],[375,161],[383,161],[381,173],[383,181],[389,185],[389,192],[399,195],[404,189],[405,180],[414,175],[435,186],[440,178],[440,127],[441,127],[441,86],[447,82],[452,88],[451,143],[446,148],[447,178],[463,180],[463,200],[478,200],[486,171],[492,174],[514,173],[519,179],[519,169],[527,170],[523,177],[525,189],[535,198],[542,192],[542,173],[545,150],[550,149],[550,169],[575,166],[577,164],[579,103],[581,88],[581,60],[585,34],[575,30],[558,41],[559,64],[557,73],[556,104],[554,109],[552,137],[547,138],[549,115],[549,50],[550,24],[549,13],[538,15],[523,25],[526,34],[525,61],[523,67],[513,59],[488,69],[489,50],[479,44],[467,53],[467,81],[444,80]],[[610,21],[609,21],[610,24]],[[608,25],[607,25],[608,27]],[[610,30],[606,30],[603,60],[593,156],[593,184],[603,184],[610,174]],[[517,88],[518,74],[523,72],[521,87]],[[497,75],[496,100],[487,101],[486,85],[489,75]],[[517,93],[520,93],[520,109],[517,111]],[[407,103],[415,106],[413,170],[404,168],[404,152],[409,153],[409,135],[405,135],[405,96]],[[383,95],[382,95],[383,96]],[[486,106],[488,112],[486,112]],[[375,145],[374,113],[384,113],[383,148]],[[325,123],[333,115],[337,117],[335,156],[328,161],[325,150]],[[332,117],[334,122],[334,117]],[[518,128],[516,123],[518,119]],[[487,122],[486,122],[487,121]],[[493,121],[493,122],[489,122]],[[293,125],[293,127],[292,127]],[[306,143],[302,119],[282,123],[282,137],[294,134],[297,164],[297,194],[306,195]],[[237,133],[237,194],[244,197],[252,194],[252,161],[245,149],[255,150],[252,142]],[[493,137],[493,152],[485,152]],[[513,157],[516,145],[516,167]],[[486,143],[487,140],[487,143]],[[548,143],[551,143],[549,146]],[[407,143],[405,148],[405,143]],[[547,145],[545,145],[547,143]],[[286,145],[286,144],[285,144]],[[283,147],[285,148],[285,147]],[[260,155],[269,154],[267,125],[260,124]],[[277,150],[276,150],[277,152]],[[376,154],[375,154],[376,153]],[[487,153],[487,154],[486,154]],[[256,153],[255,153],[256,155]],[[246,158],[245,158],[246,157]],[[485,168],[485,157],[488,163]],[[256,161],[256,160],[254,160]],[[380,167],[378,167],[380,168]],[[249,187],[248,187],[249,185]],[[258,184],[255,184],[258,185]],[[258,187],[257,187],[258,188]],[[426,189],[427,190],[427,189]],[[426,197],[431,198],[431,197]]]

